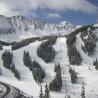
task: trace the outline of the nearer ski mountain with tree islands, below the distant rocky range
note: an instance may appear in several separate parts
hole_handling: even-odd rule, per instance
[[[59,25],[64,24],[66,22]],[[20,80],[16,78],[11,66],[4,65],[2,54],[6,53],[5,50],[13,54],[11,65],[14,64],[14,68],[18,70]],[[69,35],[30,38],[10,46],[3,46],[0,51],[0,81],[11,84],[34,98],[39,98],[40,85],[35,81],[32,67],[24,63],[28,59],[24,60],[24,51],[29,53],[28,58],[31,58],[33,64],[37,62],[37,66],[41,66],[40,70],[42,68],[45,71],[45,78],[41,83],[43,91],[45,84],[49,85],[55,79],[55,65],[60,64],[62,88],[59,92],[50,90],[51,98],[66,98],[65,96],[69,95],[70,98],[84,98],[81,94],[85,94],[86,98],[98,98],[97,24],[77,28]],[[75,78],[77,81],[73,83],[72,79]]]

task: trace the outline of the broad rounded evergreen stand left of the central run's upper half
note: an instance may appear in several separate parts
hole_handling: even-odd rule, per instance
[[[55,58],[56,52],[53,49],[56,38],[50,38],[43,42],[37,50],[37,55],[41,57],[46,63],[52,62]]]

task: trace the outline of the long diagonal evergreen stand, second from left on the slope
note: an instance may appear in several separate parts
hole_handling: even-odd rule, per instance
[[[42,69],[41,65],[35,60],[32,62],[28,52],[24,51],[23,62],[26,67],[32,71],[32,75],[36,83],[42,83],[42,80],[45,78],[45,71]]]

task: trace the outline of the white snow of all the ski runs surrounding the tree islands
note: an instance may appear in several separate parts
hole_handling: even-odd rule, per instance
[[[13,51],[13,62],[15,63],[15,67],[20,72],[20,81],[14,77],[11,71],[3,67],[1,57],[5,49],[1,50],[0,68],[2,69],[3,74],[0,76],[0,81],[11,84],[25,93],[34,96],[34,98],[38,98],[40,85],[35,82],[32,76],[32,72],[23,64],[23,53],[24,51],[28,51],[32,61],[36,60],[39,62],[41,67],[45,70],[46,77],[44,82],[41,84],[43,89],[45,84],[48,84],[55,77],[55,64],[59,63],[61,65],[63,87],[61,92],[51,92],[51,98],[65,98],[66,94],[70,95],[71,98],[81,98],[82,82],[85,83],[86,98],[98,98],[98,71],[95,69],[94,65],[92,65],[95,57],[89,57],[81,49],[81,44],[83,45],[84,43],[80,38],[80,34],[78,34],[76,37],[76,48],[83,58],[82,64],[80,66],[70,65],[69,63],[66,37],[58,37],[55,45],[53,45],[53,48],[57,54],[54,62],[52,63],[45,63],[40,57],[37,56],[37,48],[41,43],[42,41],[36,41],[29,44],[28,46]],[[77,84],[71,83],[69,73],[70,67],[72,67],[78,74]]]

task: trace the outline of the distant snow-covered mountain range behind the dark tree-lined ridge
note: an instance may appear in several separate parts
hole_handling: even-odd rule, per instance
[[[75,27],[66,21],[59,24],[49,24],[39,19],[24,16],[0,16],[0,35],[5,37],[7,34],[12,34],[12,36],[13,34],[14,36],[28,35],[27,37],[67,34],[73,29]]]

